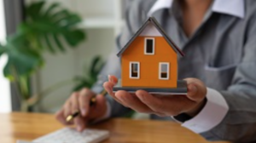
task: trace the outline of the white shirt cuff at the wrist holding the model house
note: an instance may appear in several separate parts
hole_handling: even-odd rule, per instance
[[[228,111],[229,106],[222,94],[215,89],[207,88],[206,106],[195,117],[184,122],[182,126],[201,134],[221,123]]]

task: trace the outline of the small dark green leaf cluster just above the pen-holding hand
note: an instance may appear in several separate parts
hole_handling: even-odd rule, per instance
[[[89,70],[87,71],[88,68],[85,68],[84,76],[77,76],[74,78],[76,85],[74,86],[73,91],[79,91],[84,87],[90,89],[92,85],[96,83],[98,74],[101,72],[103,65],[104,62],[101,56],[96,56],[92,60]]]

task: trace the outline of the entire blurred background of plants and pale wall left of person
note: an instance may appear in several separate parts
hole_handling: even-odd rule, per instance
[[[90,87],[131,0],[2,0],[0,112],[56,112]]]

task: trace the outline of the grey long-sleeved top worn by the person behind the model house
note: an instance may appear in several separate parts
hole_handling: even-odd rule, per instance
[[[155,0],[137,0],[126,12],[126,24],[117,38],[117,49],[102,69],[101,80],[93,87],[100,92],[108,74],[120,77],[120,62],[116,54],[147,20],[148,10]],[[163,9],[154,17],[169,37],[186,54],[179,59],[179,79],[196,77],[207,87],[218,90],[227,100],[230,110],[222,123],[201,134],[207,140],[235,142],[256,141],[256,1],[245,0],[246,16],[238,19],[211,11],[192,37],[185,37],[177,9]],[[131,110],[119,105],[110,96],[112,117]],[[172,120],[172,117],[154,119]]]

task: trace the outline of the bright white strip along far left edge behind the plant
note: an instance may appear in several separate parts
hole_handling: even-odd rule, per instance
[[[3,9],[3,0],[0,1],[0,42],[2,43],[6,37],[5,18]],[[2,55],[0,58],[0,112],[10,112],[10,88],[9,81],[3,77],[3,66],[6,64],[7,56]]]

